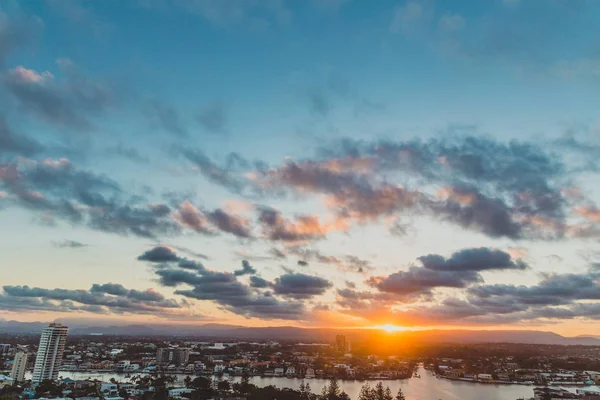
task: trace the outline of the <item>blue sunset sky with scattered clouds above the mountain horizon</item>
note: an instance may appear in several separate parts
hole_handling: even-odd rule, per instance
[[[600,330],[600,3],[0,5],[0,318]]]

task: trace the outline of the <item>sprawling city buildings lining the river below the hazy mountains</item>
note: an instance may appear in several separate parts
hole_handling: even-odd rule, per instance
[[[194,376],[217,376],[219,379],[228,376],[404,379],[413,376],[417,362],[424,361],[396,356],[359,356],[351,351],[350,341],[344,335],[337,335],[333,344],[274,341],[219,343],[156,338],[104,340],[89,337],[78,338],[67,345],[67,334],[66,326],[50,324],[43,330],[37,349],[34,349],[33,343],[0,344],[0,359],[10,360],[4,364],[5,372],[0,373],[0,388],[25,383],[22,385],[23,394],[32,397],[36,386],[47,380],[57,381],[59,374],[66,372],[90,372],[90,375],[99,378],[102,373],[121,373],[130,382],[66,378],[61,379],[60,383],[66,388],[67,394],[84,393],[87,390],[100,393],[105,400],[123,400],[125,397],[141,397],[154,390],[147,381],[140,382],[138,378],[141,376],[180,374],[180,380],[182,376],[190,376],[190,379]],[[593,354],[583,356],[595,357]],[[561,362],[560,356],[553,360]],[[544,364],[547,361],[542,359],[539,368],[531,368],[512,356],[469,360],[435,358],[426,359],[425,367],[443,379],[543,386],[535,389],[535,399],[600,398],[599,391],[584,388],[600,384],[600,372],[556,368]],[[419,378],[418,375],[414,376]],[[573,393],[561,386],[580,388]],[[185,397],[191,391],[187,387],[169,390],[169,397],[174,398]],[[79,400],[96,399],[83,396]]]

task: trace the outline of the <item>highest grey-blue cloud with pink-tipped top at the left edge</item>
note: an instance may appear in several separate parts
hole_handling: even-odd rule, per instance
[[[92,130],[91,118],[115,105],[114,90],[72,67],[63,72],[57,79],[48,71],[17,66],[3,75],[2,83],[24,110],[60,127]]]

